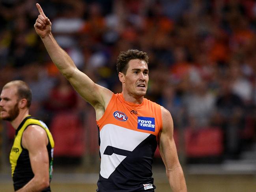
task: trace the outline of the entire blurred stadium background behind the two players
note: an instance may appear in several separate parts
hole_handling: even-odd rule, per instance
[[[190,192],[256,191],[256,2],[254,0],[2,0],[0,88],[30,85],[30,112],[56,141],[52,190],[95,191],[93,108],[51,62],[34,31],[38,2],[52,33],[92,80],[120,92],[116,58],[148,52],[146,98],[170,110]],[[0,120],[0,191],[12,191],[14,129]],[[170,191],[157,152],[157,192]]]

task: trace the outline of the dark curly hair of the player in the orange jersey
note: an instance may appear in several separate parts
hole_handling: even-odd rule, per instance
[[[146,52],[142,52],[136,49],[129,49],[126,52],[120,52],[116,62],[117,72],[126,74],[128,69],[127,63],[133,59],[143,60],[148,64],[148,54]]]

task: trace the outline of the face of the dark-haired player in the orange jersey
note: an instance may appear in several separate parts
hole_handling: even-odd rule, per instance
[[[125,89],[133,97],[146,95],[148,88],[148,65],[143,60],[130,60],[125,77]]]

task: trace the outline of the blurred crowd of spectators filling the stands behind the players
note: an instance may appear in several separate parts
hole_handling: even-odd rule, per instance
[[[239,158],[256,141],[254,0],[2,0],[0,88],[26,81],[32,115],[50,124],[60,112],[94,112],[35,33],[36,2],[59,45],[97,84],[120,92],[119,52],[142,50],[149,54],[146,98],[171,112],[174,129],[220,127],[225,158]]]

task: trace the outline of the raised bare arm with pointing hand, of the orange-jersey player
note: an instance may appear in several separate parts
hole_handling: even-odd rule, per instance
[[[47,49],[52,61],[58,67],[60,72],[69,80],[71,85],[77,92],[96,110],[103,112],[107,107],[108,102],[112,97],[112,91],[95,84],[87,75],[77,69],[75,63],[70,56],[58,45],[51,33],[51,22],[46,17],[43,9],[39,4],[36,4],[39,11],[38,18],[34,24],[36,33],[41,37],[45,48]],[[97,119],[99,115],[97,116]]]

